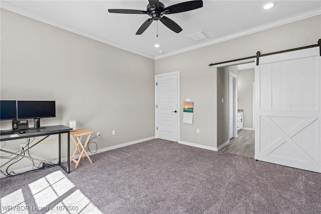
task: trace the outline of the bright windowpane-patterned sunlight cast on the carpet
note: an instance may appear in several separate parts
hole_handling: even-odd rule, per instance
[[[62,171],[53,172],[28,186],[37,206],[27,204],[22,189],[19,189],[1,198],[1,213],[39,210],[47,213],[102,213],[79,189],[71,193],[75,184]]]

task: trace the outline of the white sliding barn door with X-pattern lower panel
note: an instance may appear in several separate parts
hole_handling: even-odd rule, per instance
[[[255,159],[321,172],[319,49],[259,58]]]

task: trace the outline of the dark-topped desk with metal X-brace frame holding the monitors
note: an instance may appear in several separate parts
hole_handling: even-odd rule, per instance
[[[12,135],[0,135],[0,141],[12,141],[12,140],[18,140],[18,139],[25,139],[25,138],[34,138],[34,137],[41,137],[41,136],[45,136],[43,139],[41,139],[40,141],[38,141],[37,143],[35,143],[34,145],[30,146],[28,149],[25,150],[25,152],[27,152],[29,149],[33,148],[34,146],[36,146],[37,144],[39,144],[40,142],[42,142],[43,140],[45,140],[46,138],[48,138],[50,135],[59,135],[59,158],[58,158],[58,165],[61,166],[61,168],[63,168],[67,173],[70,172],[70,163],[69,163],[69,155],[70,155],[70,133],[69,131],[72,130],[69,127],[63,126],[63,125],[57,125],[57,126],[47,126],[45,129],[32,129],[32,130],[26,130],[26,133],[24,134],[20,134],[19,132],[17,132],[17,134],[12,134]],[[61,134],[67,133],[67,168],[65,168],[62,164],[61,164]],[[0,151],[2,152],[6,152],[9,154],[15,154],[16,156],[7,161],[6,163],[2,164],[0,166],[3,167],[5,165],[7,165],[9,162],[17,159],[18,157],[26,157],[29,159],[33,159],[33,160],[37,160],[37,161],[42,161],[45,163],[50,163],[48,161],[43,161],[37,158],[31,158],[29,156],[25,156],[19,153],[14,153],[14,152],[10,152],[10,151],[6,151],[3,149],[0,149]],[[50,163],[52,164],[52,163]]]

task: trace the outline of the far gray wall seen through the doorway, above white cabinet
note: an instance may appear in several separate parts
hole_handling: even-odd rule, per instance
[[[238,109],[243,109],[243,128],[253,128],[254,68],[239,70],[237,75]]]

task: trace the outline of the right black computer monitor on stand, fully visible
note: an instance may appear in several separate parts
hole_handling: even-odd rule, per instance
[[[34,128],[40,128],[41,118],[56,117],[56,101],[18,100],[18,120],[34,119]]]

